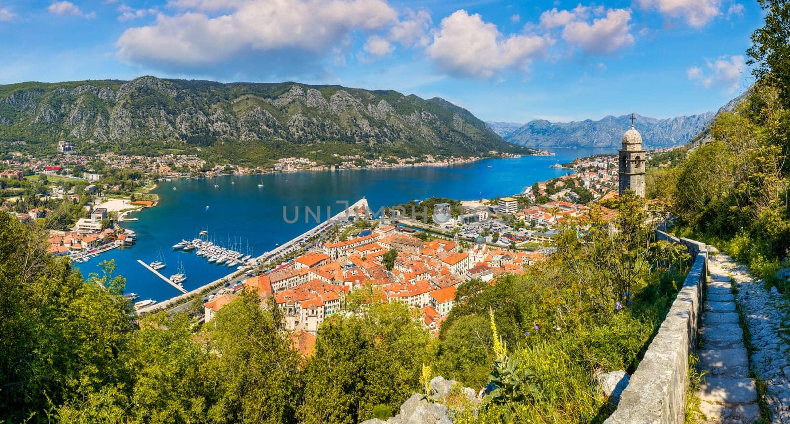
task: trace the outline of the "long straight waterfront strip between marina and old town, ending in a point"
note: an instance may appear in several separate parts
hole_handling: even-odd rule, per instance
[[[300,248],[302,244],[299,240],[307,240],[308,238],[314,235],[322,233],[323,231],[325,231],[325,229],[330,228],[329,226],[325,226],[329,221],[337,221],[340,219],[344,219],[347,216],[353,216],[356,214],[356,211],[359,210],[360,207],[364,207],[366,211],[369,210],[367,199],[365,198],[359,199],[352,205],[349,205],[348,208],[345,208],[344,210],[340,211],[339,214],[334,215],[332,218],[329,218],[326,221],[323,221],[322,223],[314,226],[312,229],[309,229],[306,232],[299,234],[299,236],[292,238],[288,242],[280,245],[279,247],[273,249],[272,251],[266,252],[264,255],[258,256],[258,258],[250,259],[250,263],[254,260],[255,263],[258,263],[260,265],[262,263],[265,263],[265,261],[269,260],[269,258],[273,258],[279,255],[280,253],[288,252],[292,250],[292,248]],[[145,263],[143,263],[143,265],[145,266]],[[246,280],[247,277],[244,273],[246,271],[250,271],[250,269],[253,269],[253,267],[251,266],[244,267],[238,271],[231,272],[231,274],[225,275],[222,278],[217,278],[213,282],[209,282],[208,284],[200,286],[194,290],[190,290],[186,293],[179,294],[179,296],[167,299],[167,301],[163,301],[155,305],[151,305],[147,308],[138,309],[135,313],[137,315],[145,315],[148,313],[159,312],[163,309],[169,309],[171,307],[180,305],[185,301],[188,301],[191,297],[201,296],[204,293],[211,292],[212,290],[218,290],[220,287],[224,286],[226,282],[230,282],[229,286],[234,286],[235,283]]]

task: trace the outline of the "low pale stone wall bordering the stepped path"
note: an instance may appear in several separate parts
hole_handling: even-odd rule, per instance
[[[708,252],[704,243],[662,231],[656,231],[656,238],[685,245],[694,264],[608,424],[685,421],[689,354],[697,343]]]

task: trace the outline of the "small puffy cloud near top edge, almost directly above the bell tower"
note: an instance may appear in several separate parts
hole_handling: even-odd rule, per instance
[[[571,21],[562,29],[562,38],[577,44],[587,53],[610,54],[634,44],[630,33],[630,10],[609,9],[604,17],[592,21]]]

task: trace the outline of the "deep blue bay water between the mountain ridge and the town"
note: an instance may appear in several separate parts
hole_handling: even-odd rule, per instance
[[[376,210],[380,206],[432,195],[451,199],[513,195],[536,181],[568,173],[567,170],[550,168],[552,164],[593,153],[611,152],[556,150],[556,153],[556,156],[486,159],[453,166],[345,169],[160,182],[154,191],[161,196],[160,203],[131,214],[139,221],[123,224],[137,232],[137,244],[114,249],[88,263],[77,264],[77,267],[87,276],[91,272],[100,272],[98,264],[102,260],[115,259],[115,274],[126,277],[126,292],[138,293],[141,299],[164,301],[178,295],[179,291],[137,263],[137,259],[145,263],[156,260],[157,247],[162,248],[167,263],[167,267],[160,271],[162,274],[175,274],[181,260],[187,276],[184,282],[186,290],[235,271],[235,268],[208,263],[194,251],[181,252],[171,248],[179,240],[197,237],[202,229],[209,230],[209,239],[225,245],[235,243],[241,252],[246,252],[249,244],[254,256],[260,256],[277,243],[291,240],[316,225],[314,220],[305,222],[304,206],[313,210],[321,206],[320,219],[325,220],[329,218],[326,206],[331,206],[332,214],[337,214],[343,207],[337,201],[353,203],[363,196]],[[215,184],[220,187],[215,188]],[[258,184],[263,184],[263,187],[258,187]],[[174,191],[173,187],[177,190]],[[284,206],[288,208],[289,220],[293,220],[295,207],[298,207],[299,221],[286,223]]]

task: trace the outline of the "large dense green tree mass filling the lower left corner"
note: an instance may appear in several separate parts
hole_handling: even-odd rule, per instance
[[[124,280],[84,282],[47,249],[47,231],[0,214],[0,416],[43,422],[51,405],[124,378],[119,352],[132,327]]]

